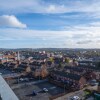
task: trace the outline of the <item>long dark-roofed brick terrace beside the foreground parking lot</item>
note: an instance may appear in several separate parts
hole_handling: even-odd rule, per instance
[[[66,88],[70,87],[75,90],[82,89],[86,84],[84,76],[55,70],[50,72],[49,80],[56,85],[65,86]]]

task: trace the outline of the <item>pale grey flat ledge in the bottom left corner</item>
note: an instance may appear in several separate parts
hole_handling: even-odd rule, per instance
[[[0,95],[2,97],[2,100],[19,100],[1,75],[0,75]]]

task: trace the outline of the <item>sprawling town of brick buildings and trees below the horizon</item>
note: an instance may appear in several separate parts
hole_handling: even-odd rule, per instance
[[[1,49],[0,52],[0,74],[17,96],[12,95],[13,100],[75,97],[94,100],[94,95],[100,92],[99,66],[99,49]]]

